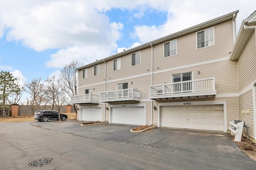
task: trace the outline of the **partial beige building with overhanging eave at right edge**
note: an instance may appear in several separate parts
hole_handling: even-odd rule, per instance
[[[256,142],[256,11],[242,21],[231,61],[237,61],[239,119],[244,121],[244,134]]]

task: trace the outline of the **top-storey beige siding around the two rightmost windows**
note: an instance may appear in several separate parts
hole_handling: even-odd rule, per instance
[[[196,49],[196,32],[179,37],[177,55],[171,57],[164,57],[164,43],[154,46],[153,70],[229,57],[229,51],[233,47],[232,21],[214,26],[214,37],[214,45],[200,49]]]

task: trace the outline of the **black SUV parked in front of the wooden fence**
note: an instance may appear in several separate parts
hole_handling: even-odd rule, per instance
[[[59,120],[59,113],[54,110],[38,110],[34,114],[34,119],[38,121]],[[68,115],[60,113],[60,120],[68,119]]]

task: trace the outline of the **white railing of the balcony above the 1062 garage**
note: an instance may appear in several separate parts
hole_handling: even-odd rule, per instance
[[[215,77],[150,86],[150,96],[215,91]]]

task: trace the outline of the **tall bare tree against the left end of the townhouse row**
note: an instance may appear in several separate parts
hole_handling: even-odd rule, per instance
[[[78,73],[76,72],[76,68],[82,66],[78,61],[72,61],[70,64],[64,66],[64,68],[60,71],[60,85],[62,90],[67,94],[67,96],[76,96],[78,95]],[[76,104],[72,105],[77,113]]]

